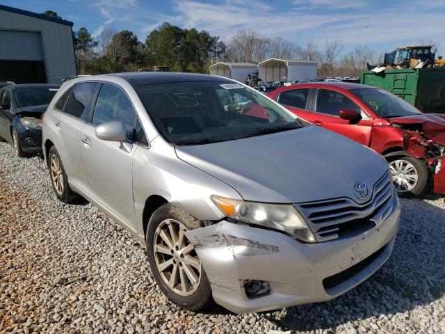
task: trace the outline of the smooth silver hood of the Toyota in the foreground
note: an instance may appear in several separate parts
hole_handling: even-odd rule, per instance
[[[387,171],[385,160],[371,149],[313,125],[175,149],[179,159],[229,184],[245,200],[259,202],[354,199],[355,183],[372,189]]]

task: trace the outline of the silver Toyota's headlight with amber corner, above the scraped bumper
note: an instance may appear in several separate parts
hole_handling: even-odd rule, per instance
[[[226,216],[236,221],[280,230],[301,241],[316,242],[305,218],[293,205],[247,202],[216,195],[212,195],[211,199]]]

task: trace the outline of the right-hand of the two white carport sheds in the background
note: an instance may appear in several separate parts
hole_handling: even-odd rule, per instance
[[[270,58],[261,61],[258,70],[258,77],[263,81],[310,81],[317,77],[316,61]]]

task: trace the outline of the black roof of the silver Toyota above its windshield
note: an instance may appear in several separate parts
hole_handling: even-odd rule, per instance
[[[150,84],[168,84],[172,82],[193,81],[221,81],[232,82],[225,77],[209,74],[177,73],[177,72],[135,72],[135,73],[113,73],[113,77],[127,80],[131,86],[142,86]]]

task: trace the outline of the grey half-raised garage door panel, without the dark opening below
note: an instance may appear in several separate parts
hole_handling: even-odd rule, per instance
[[[0,31],[0,60],[43,61],[40,33]]]

